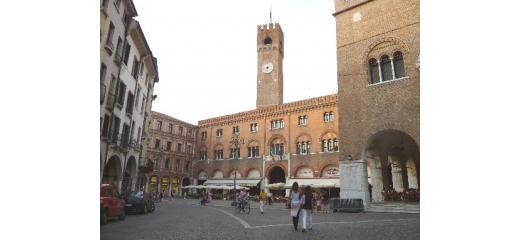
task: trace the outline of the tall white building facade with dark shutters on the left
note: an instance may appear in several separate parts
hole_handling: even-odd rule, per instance
[[[100,176],[128,192],[139,187],[146,117],[151,110],[157,60],[133,17],[131,0],[101,1]]]

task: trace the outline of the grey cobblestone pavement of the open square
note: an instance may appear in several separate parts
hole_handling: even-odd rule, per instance
[[[253,202],[237,214],[229,202],[200,206],[195,200],[163,201],[155,212],[128,215],[101,226],[101,239],[419,239],[419,214],[315,213],[313,230],[295,232],[287,210]],[[227,203],[227,204],[225,204]],[[299,229],[301,229],[301,216]]]

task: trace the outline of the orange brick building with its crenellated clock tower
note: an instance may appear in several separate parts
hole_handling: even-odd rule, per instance
[[[339,184],[337,95],[283,103],[283,31],[257,32],[257,108],[199,121],[195,184]]]

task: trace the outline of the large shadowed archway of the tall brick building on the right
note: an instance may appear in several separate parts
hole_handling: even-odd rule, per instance
[[[363,158],[372,201],[384,201],[383,191],[419,188],[419,147],[407,133],[396,129],[377,131],[368,138]]]

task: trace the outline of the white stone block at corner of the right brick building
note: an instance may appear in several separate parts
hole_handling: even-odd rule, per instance
[[[370,198],[366,169],[366,161],[363,159],[339,161],[340,198],[360,198],[363,200],[365,209]]]

